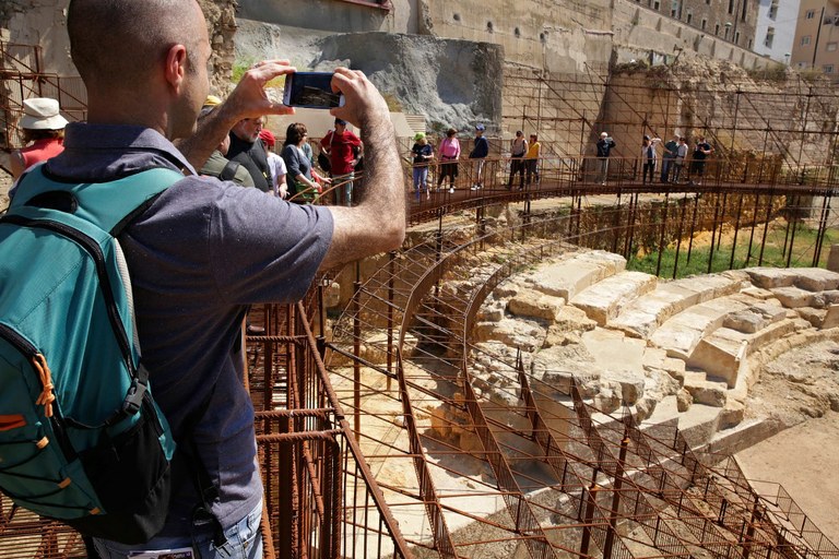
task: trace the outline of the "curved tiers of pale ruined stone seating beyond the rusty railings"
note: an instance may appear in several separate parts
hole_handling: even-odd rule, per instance
[[[839,326],[839,274],[748,269],[667,282],[626,271],[614,254],[576,252],[496,288],[478,320],[472,342],[530,356],[548,415],[562,417],[576,379],[601,420],[629,406],[645,426],[670,421],[701,447],[747,423],[749,356]],[[519,396],[493,400],[518,408]]]

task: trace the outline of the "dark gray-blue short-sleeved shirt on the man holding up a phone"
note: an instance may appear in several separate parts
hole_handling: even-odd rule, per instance
[[[60,179],[108,181],[150,167],[194,174],[177,148],[150,129],[71,123],[64,147],[46,167]],[[306,293],[332,226],[326,207],[190,176],[120,236],[143,361],[176,440],[185,418],[211,399],[193,435],[220,487],[213,511],[224,527],[262,497],[253,409],[239,380],[241,319],[251,304],[291,302]],[[162,535],[186,533],[196,497],[191,480],[179,489]]]

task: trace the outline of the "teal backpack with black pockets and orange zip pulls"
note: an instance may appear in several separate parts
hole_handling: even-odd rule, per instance
[[[140,362],[116,237],[182,178],[71,185],[40,166],[0,217],[0,489],[123,544],[163,527],[175,443]]]

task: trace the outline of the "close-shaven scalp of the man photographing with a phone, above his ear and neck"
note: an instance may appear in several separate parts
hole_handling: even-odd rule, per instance
[[[67,15],[73,63],[88,87],[142,84],[178,44],[192,62],[199,26],[196,0],[71,0]]]

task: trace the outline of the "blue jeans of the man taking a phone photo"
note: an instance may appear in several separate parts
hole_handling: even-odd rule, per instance
[[[163,550],[191,547],[198,552],[196,559],[261,559],[262,533],[259,523],[262,520],[262,501],[238,523],[224,532],[227,544],[216,548],[212,533],[190,536],[156,536],[145,544],[127,546],[107,539],[93,543],[102,559],[126,559],[129,554],[139,550]]]

